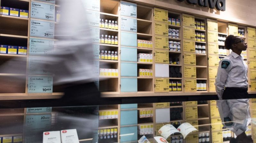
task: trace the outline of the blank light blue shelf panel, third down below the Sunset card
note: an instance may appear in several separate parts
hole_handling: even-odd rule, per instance
[[[137,63],[121,62],[121,76],[137,77]]]

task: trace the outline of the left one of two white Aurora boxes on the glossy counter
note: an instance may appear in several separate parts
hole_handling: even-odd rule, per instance
[[[43,132],[43,143],[61,143],[60,131]]]

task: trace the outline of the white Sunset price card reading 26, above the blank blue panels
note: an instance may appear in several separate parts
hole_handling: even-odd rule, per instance
[[[137,32],[137,19],[121,17],[121,30]]]

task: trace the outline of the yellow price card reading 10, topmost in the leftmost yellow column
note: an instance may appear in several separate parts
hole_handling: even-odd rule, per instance
[[[154,8],[155,21],[168,23],[168,10]]]

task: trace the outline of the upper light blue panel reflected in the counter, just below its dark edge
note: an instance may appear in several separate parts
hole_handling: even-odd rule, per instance
[[[138,110],[121,111],[120,125],[136,125],[138,123]]]

